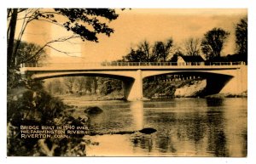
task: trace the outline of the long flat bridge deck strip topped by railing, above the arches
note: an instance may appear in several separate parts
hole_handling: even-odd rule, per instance
[[[21,65],[20,71],[78,71],[78,70],[229,70],[238,69],[243,62],[111,62],[111,63],[50,63]]]

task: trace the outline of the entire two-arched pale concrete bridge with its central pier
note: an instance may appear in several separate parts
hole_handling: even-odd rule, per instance
[[[243,62],[103,62],[21,65],[32,79],[58,76],[105,76],[123,82],[127,100],[143,99],[143,78],[166,74],[198,75],[207,79],[207,93],[239,94],[247,91],[247,65]]]

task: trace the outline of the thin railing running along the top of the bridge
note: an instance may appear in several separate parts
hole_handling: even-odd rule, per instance
[[[198,66],[198,65],[245,65],[244,62],[98,62],[98,63],[41,63],[41,64],[21,64],[20,67],[89,67],[89,66]]]

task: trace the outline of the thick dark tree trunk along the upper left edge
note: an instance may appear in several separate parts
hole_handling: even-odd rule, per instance
[[[13,51],[14,51],[14,45],[15,45],[15,29],[16,29],[17,16],[18,16],[18,8],[14,8],[13,13],[11,15],[10,23],[9,23],[9,33],[7,34],[8,36],[7,66],[9,68],[13,66],[13,62],[15,59]]]

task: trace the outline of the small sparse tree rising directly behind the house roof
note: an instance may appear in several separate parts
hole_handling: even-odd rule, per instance
[[[190,37],[184,43],[185,54],[189,56],[200,55],[200,39]]]

